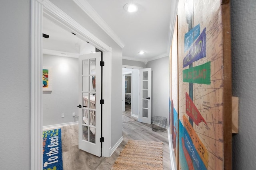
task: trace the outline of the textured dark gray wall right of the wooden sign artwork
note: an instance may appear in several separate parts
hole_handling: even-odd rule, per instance
[[[232,138],[233,169],[256,167],[256,1],[232,0],[232,90],[239,97],[239,134]]]

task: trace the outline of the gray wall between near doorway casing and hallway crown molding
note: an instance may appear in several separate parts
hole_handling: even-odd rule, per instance
[[[104,59],[105,68],[112,65],[111,75],[111,147],[122,138],[122,48],[109,37],[81,8],[72,0],[50,0],[54,5],[76,20],[106,45],[112,47],[112,58]],[[106,62],[110,60],[110,62]],[[108,64],[109,63],[109,64]],[[104,130],[104,129],[103,129]]]

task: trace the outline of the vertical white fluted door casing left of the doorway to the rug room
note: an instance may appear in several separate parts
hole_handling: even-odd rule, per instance
[[[42,170],[42,3],[31,0],[30,169]]]

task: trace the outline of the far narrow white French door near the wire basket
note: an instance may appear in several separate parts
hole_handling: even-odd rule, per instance
[[[139,121],[151,124],[151,68],[140,69]]]

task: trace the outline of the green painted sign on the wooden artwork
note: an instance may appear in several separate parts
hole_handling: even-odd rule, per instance
[[[183,82],[211,84],[211,62],[183,70]]]

